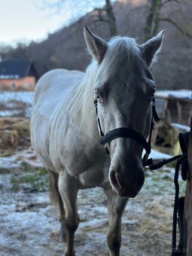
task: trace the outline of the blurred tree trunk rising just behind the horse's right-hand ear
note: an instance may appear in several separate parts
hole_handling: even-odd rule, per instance
[[[157,33],[160,19],[161,0],[151,0],[148,17],[145,24],[144,40],[152,38]]]

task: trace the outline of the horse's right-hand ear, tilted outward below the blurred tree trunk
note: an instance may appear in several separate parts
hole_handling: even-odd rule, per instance
[[[145,44],[140,45],[142,56],[148,66],[151,66],[153,60],[155,60],[155,56],[161,49],[164,32],[165,30],[162,30],[158,35],[154,36],[154,38],[151,38],[146,41]]]

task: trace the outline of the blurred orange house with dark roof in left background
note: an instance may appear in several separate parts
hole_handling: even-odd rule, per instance
[[[34,90],[36,80],[35,67],[29,60],[0,62],[0,90]]]

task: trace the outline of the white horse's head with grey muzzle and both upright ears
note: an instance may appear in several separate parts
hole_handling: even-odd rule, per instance
[[[156,88],[150,66],[160,50],[163,34],[164,31],[139,45],[133,38],[120,36],[106,42],[84,27],[88,50],[97,63],[94,94],[104,134],[126,127],[147,139]],[[112,189],[120,197],[136,197],[145,181],[142,145],[133,139],[118,137],[109,141],[107,147]]]

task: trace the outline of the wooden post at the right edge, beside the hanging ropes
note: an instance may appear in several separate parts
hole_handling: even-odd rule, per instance
[[[187,179],[186,194],[184,199],[184,255],[192,255],[192,118],[190,119],[190,137],[188,145],[189,175]]]

